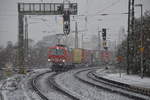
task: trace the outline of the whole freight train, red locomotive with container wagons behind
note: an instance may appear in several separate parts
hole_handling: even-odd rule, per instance
[[[66,71],[76,65],[89,66],[99,63],[100,52],[56,45],[48,48],[48,61],[52,63],[52,71]]]

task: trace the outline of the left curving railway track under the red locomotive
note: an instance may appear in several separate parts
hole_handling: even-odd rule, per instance
[[[41,73],[39,75],[37,75],[35,78],[32,79],[31,81],[31,85],[33,90],[41,97],[42,100],[50,100],[46,95],[44,95],[44,93],[41,92],[41,90],[38,88],[37,86],[37,80],[39,77],[43,76],[44,74],[50,73],[50,71],[47,71],[45,73]],[[59,86],[56,82],[55,82],[55,76],[58,75],[59,73],[54,73],[52,74],[49,78],[48,78],[48,82],[50,87],[53,87],[53,89],[55,89],[58,92],[61,92],[61,94],[69,97],[71,100],[80,100],[78,97],[76,97],[74,94],[71,94],[69,91],[63,89],[61,86]]]

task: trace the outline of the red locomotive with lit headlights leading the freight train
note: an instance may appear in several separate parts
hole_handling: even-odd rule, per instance
[[[52,63],[52,70],[66,70],[72,66],[71,50],[64,45],[49,47],[48,61]]]

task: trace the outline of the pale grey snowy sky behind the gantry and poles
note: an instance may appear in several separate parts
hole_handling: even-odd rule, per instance
[[[108,36],[113,40],[118,39],[119,29],[127,30],[127,15],[119,14],[128,11],[128,0],[70,0],[78,3],[78,15],[87,15],[86,36],[97,34],[98,27],[107,28]],[[18,40],[18,2],[62,2],[62,0],[0,0],[0,45],[6,45],[7,41]],[[135,0],[144,5],[144,11],[150,10],[150,0]],[[100,16],[99,13],[110,14]],[[135,8],[135,15],[139,17],[140,9]],[[29,38],[40,40],[48,34],[62,33],[61,16],[27,16],[29,22]],[[86,29],[85,17],[78,17],[79,30]],[[43,21],[44,19],[44,21]],[[71,20],[73,17],[71,17]],[[74,30],[74,21],[71,22],[71,30]],[[48,33],[49,32],[49,33]],[[73,33],[71,33],[73,34]]]

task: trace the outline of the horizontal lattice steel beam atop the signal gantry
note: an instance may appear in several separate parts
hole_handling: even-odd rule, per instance
[[[18,3],[19,13],[24,15],[62,15],[63,3]],[[77,3],[69,4],[70,15],[77,14]]]

